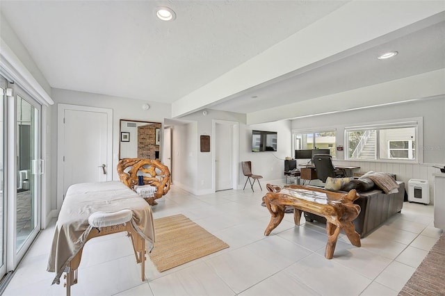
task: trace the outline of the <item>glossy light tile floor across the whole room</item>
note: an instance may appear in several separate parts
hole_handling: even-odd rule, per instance
[[[154,217],[182,213],[230,247],[158,272],[147,258],[140,281],[129,238],[117,233],[88,242],[72,295],[397,295],[439,238],[433,207],[405,202],[402,213],[350,245],[341,235],[334,258],[324,258],[325,225],[293,224],[293,214],[270,236],[265,191],[225,190],[195,196],[172,186],[153,206]],[[4,295],[65,295],[46,271],[53,221],[40,232]]]

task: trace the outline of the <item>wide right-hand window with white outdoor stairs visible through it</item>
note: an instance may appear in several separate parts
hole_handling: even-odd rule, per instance
[[[347,127],[346,158],[370,161],[389,159],[418,161],[416,158],[418,126],[419,121]]]

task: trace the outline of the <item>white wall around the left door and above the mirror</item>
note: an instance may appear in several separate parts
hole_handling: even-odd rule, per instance
[[[60,90],[54,88],[52,91],[54,106],[51,106],[50,117],[52,122],[57,122],[57,104],[72,104],[113,109],[113,180],[118,180],[116,172],[118,165],[119,143],[120,143],[120,120],[141,120],[147,122],[163,122],[164,118],[170,117],[170,104],[159,102],[147,102],[137,99],[122,97],[111,97],[104,94],[92,94],[88,92],[76,92],[74,90]],[[150,105],[149,110],[143,110],[143,104]],[[57,129],[56,124],[49,126],[51,134],[51,209],[56,208],[57,188]],[[162,142],[161,142],[162,145]]]

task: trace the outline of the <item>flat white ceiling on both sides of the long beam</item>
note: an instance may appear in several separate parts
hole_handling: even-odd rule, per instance
[[[346,3],[2,0],[0,10],[52,88],[172,103]],[[177,19],[156,19],[156,6]],[[442,17],[203,107],[251,113],[442,69],[444,36]],[[387,49],[398,56],[376,60]]]

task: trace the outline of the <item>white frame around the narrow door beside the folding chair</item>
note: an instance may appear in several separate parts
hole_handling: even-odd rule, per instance
[[[232,188],[238,189],[238,147],[239,147],[239,123],[230,121],[230,120],[212,120],[211,133],[213,137],[211,137],[211,163],[212,163],[212,182],[211,189],[213,192],[216,192],[216,124],[227,124],[232,128]]]

